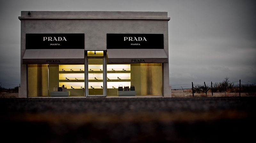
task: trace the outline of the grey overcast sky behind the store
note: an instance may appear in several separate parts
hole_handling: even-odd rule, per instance
[[[20,11],[166,11],[173,88],[256,82],[255,0],[0,0],[2,86],[20,84]]]

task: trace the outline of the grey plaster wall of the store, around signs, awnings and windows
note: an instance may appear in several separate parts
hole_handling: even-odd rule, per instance
[[[164,34],[168,56],[167,12],[131,11],[21,11],[21,88],[19,97],[27,97],[27,70],[22,64],[26,33],[84,33],[85,50],[107,50],[107,33]],[[164,63],[164,97],[171,97],[169,64]]]

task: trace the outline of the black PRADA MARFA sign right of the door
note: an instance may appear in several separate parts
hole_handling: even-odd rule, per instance
[[[164,49],[164,34],[107,34],[107,49]]]

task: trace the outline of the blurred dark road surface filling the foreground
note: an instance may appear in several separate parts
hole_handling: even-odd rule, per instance
[[[254,142],[256,97],[0,98],[1,142]]]

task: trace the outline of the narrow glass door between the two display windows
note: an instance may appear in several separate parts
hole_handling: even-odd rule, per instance
[[[106,97],[104,58],[87,58],[87,97]]]

